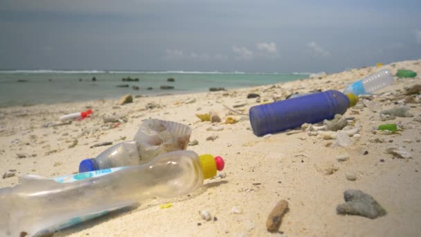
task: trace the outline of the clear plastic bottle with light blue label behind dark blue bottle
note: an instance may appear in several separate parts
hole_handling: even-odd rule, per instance
[[[366,76],[361,80],[348,85],[348,87],[343,90],[344,94],[355,94],[356,96],[372,94],[378,89],[387,87],[388,85],[393,84],[393,75],[388,69],[382,71],[377,71],[377,73]]]

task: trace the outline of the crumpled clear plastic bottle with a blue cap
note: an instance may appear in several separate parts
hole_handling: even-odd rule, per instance
[[[134,141],[118,143],[98,157],[82,160],[79,172],[138,166],[165,152],[186,150],[191,131],[190,127],[181,123],[147,119],[134,136]]]

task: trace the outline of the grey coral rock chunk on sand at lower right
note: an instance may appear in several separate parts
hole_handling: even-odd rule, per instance
[[[363,191],[348,189],[343,192],[343,199],[345,203],[338,205],[338,214],[364,216],[370,219],[387,214],[386,210],[372,196]]]

